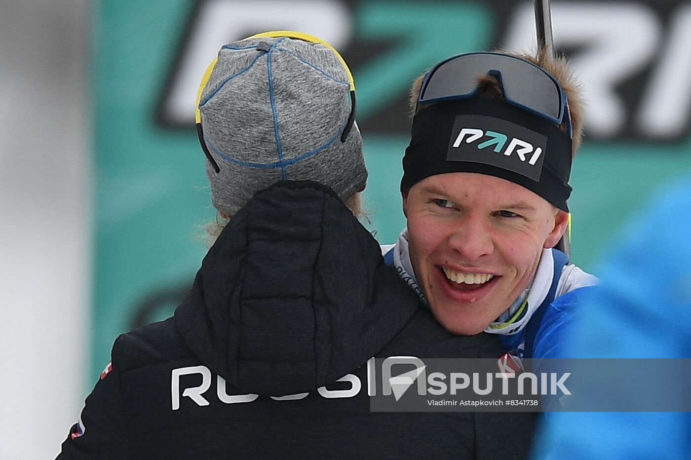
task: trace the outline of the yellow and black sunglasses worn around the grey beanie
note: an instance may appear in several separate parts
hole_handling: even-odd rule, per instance
[[[345,73],[348,74],[348,82],[350,83],[350,115],[348,115],[348,122],[346,122],[345,128],[343,129],[343,133],[341,134],[341,142],[345,142],[345,139],[348,137],[348,133],[350,133],[350,129],[352,128],[352,125],[355,122],[355,81],[352,78],[352,73],[350,72],[350,68],[348,68],[348,64],[345,64],[345,60],[343,59],[341,54],[336,50],[336,48],[328,44],[326,41],[323,41],[318,37],[314,37],[314,35],[308,35],[302,32],[294,32],[292,30],[274,30],[272,32],[263,32],[261,34],[252,35],[252,37],[247,37],[245,40],[256,39],[261,37],[286,37],[290,39],[298,39],[302,41],[307,41],[309,43],[321,44],[334,52],[334,54],[338,57],[339,61],[341,61],[341,64],[343,64]],[[207,83],[209,82],[209,77],[211,77],[211,72],[214,70],[214,66],[216,66],[216,61],[218,61],[218,58],[215,58],[213,61],[211,61],[211,64],[209,64],[209,67],[207,67],[207,70],[202,76],[202,81],[199,84],[199,90],[197,91],[197,101],[195,106],[195,123],[197,126],[197,135],[199,136],[199,142],[200,144],[202,144],[202,150],[204,151],[207,160],[209,160],[209,162],[211,163],[211,166],[214,166],[214,171],[218,173],[218,171],[220,171],[220,168],[218,167],[216,160],[214,160],[214,157],[211,156],[209,148],[207,148],[207,144],[204,141],[204,131],[202,129],[202,111],[199,108],[200,102],[202,100],[202,93],[204,92],[204,88],[207,86]]]

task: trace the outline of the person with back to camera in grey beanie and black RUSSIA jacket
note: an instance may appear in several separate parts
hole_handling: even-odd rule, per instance
[[[175,315],[117,338],[58,458],[527,455],[533,414],[370,412],[373,356],[503,347],[419,308],[353,215],[367,178],[354,102],[350,71],[314,37],[223,46],[198,132],[229,222]]]

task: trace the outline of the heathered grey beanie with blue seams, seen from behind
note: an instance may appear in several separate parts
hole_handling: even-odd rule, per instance
[[[233,215],[277,180],[314,180],[345,200],[367,170],[350,84],[332,50],[299,39],[254,38],[223,46],[199,108],[214,206]]]

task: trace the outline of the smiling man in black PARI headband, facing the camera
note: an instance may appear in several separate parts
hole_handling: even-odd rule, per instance
[[[385,260],[455,334],[500,334],[518,357],[560,357],[596,278],[553,249],[569,224],[582,132],[563,59],[477,52],[413,84],[403,160],[408,227]]]

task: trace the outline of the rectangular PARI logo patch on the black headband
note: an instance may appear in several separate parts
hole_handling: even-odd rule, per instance
[[[458,115],[446,160],[489,164],[538,182],[546,150],[547,137],[518,124],[484,115]]]

